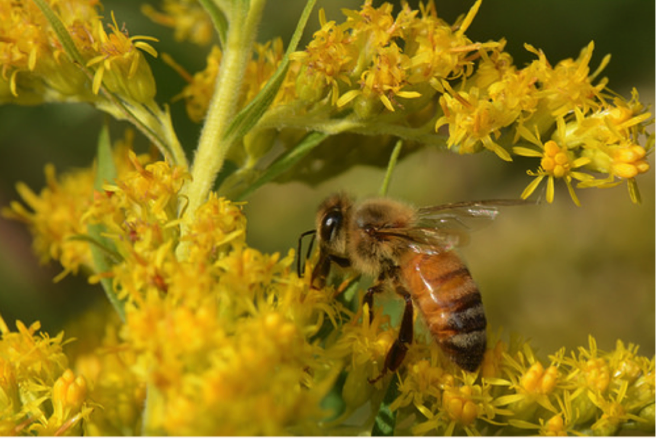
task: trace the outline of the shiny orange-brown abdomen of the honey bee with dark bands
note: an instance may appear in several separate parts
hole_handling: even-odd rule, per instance
[[[401,270],[442,350],[462,369],[478,369],[485,354],[487,321],[481,293],[458,255],[412,253]]]

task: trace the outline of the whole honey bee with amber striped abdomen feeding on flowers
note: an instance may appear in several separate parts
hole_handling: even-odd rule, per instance
[[[375,277],[363,298],[370,312],[374,295],[385,288],[405,301],[398,337],[371,382],[403,362],[413,340],[415,307],[447,357],[466,371],[479,368],[487,320],[481,293],[454,248],[468,241],[471,229],[493,221],[499,206],[525,203],[490,200],[417,209],[389,198],[355,202],[339,193],[320,205],[316,230],[304,234],[316,234],[319,247],[311,285],[323,287],[335,263]]]

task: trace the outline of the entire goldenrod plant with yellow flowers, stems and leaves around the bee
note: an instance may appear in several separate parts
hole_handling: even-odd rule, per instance
[[[19,184],[24,205],[3,210],[28,224],[43,261],[62,264],[59,277],[84,268],[118,312],[90,311],[72,323],[78,341],[66,352],[63,333],[37,334],[38,322],[17,322],[12,332],[0,318],[0,432],[656,429],[656,361],[633,344],[603,352],[590,337],[571,355],[561,349],[539,357],[519,337],[493,333],[472,373],[418,324],[402,365],[386,370],[399,331],[387,314],[394,303],[370,309],[354,279],[317,288],[297,274],[292,250],[252,247],[244,202],[226,195],[244,196],[329,134],[351,132],[463,154],[487,150],[506,161],[534,158],[524,198],[545,179],[548,202],[563,180],[576,204],[576,181],[579,188],[627,181],[637,201],[635,179],[650,169],[653,140],[640,142],[650,135],[651,114],[637,93],[626,101],[605,90],[605,79],[595,82],[607,58],[591,74],[592,44],[555,66],[527,46],[537,59],[519,68],[505,41],[466,35],[480,0],[454,24],[438,18],[433,2],[419,10],[403,4],[394,15],[390,4],[366,0],[345,10],[341,23],[320,12],[321,29],[308,46],[296,50],[299,30],[285,52],[279,39],[254,42],[262,1],[217,2],[207,13],[200,3],[165,1],[162,12],[145,8],[153,20],[200,44],[210,39],[211,21],[221,44],[204,71],[178,69],[189,80],[180,94],[187,112],[204,121],[190,166],[168,110],[154,102],[155,79],[142,53],[156,55],[146,42],[152,38],[130,37],[113,14],[105,28],[97,2],[34,1],[39,7],[0,5],[0,100],[91,102],[133,123],[164,157],[133,152],[129,130],[110,154],[104,133],[93,167],[56,174],[48,165],[46,188]],[[343,143],[353,150],[346,157],[323,152],[340,170],[369,163],[362,153],[376,151]],[[237,169],[216,188],[225,160]],[[316,261],[308,259],[310,273]]]

